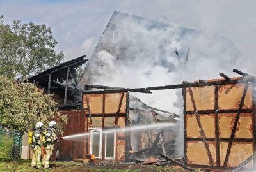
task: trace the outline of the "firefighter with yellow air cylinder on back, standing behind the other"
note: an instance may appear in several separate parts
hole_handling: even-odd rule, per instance
[[[40,158],[41,158],[41,147],[43,145],[42,143],[42,133],[44,131],[42,122],[37,122],[36,127],[33,130],[33,135],[32,135],[32,143],[31,143],[31,149],[32,149],[32,162],[31,162],[31,167],[32,168],[38,168],[40,169]],[[36,163],[36,158],[38,163]]]

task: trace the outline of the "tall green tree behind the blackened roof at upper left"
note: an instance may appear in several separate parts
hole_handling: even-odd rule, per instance
[[[19,82],[55,66],[64,57],[63,52],[55,52],[56,44],[51,27],[32,22],[21,24],[20,21],[8,25],[0,16],[0,75]]]

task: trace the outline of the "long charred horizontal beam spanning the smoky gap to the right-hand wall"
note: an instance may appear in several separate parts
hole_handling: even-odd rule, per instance
[[[114,92],[138,92],[141,90],[168,90],[168,89],[182,89],[189,87],[205,87],[212,85],[228,85],[228,84],[237,84],[237,83],[246,83],[246,82],[254,82],[255,78],[251,76],[244,76],[243,78],[234,79],[234,80],[217,80],[217,81],[209,81],[205,83],[181,83],[176,85],[166,85],[166,86],[158,86],[158,87],[146,87],[146,88],[137,88],[137,89],[115,89],[115,90],[104,90],[104,91],[89,91],[84,92],[84,94],[97,94],[97,93],[114,93]]]

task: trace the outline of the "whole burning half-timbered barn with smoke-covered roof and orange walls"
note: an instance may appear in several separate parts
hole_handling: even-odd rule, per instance
[[[53,158],[141,162],[163,154],[212,168],[234,168],[250,158],[255,147],[252,77],[170,85],[177,83],[172,73],[185,70],[195,57],[212,63],[219,57],[228,65],[241,54],[228,38],[115,11],[89,61],[78,57],[28,78],[54,94],[58,111],[69,117],[63,136],[86,133],[79,141],[61,140]],[[144,88],[161,77],[167,86]],[[246,97],[239,99],[247,82],[252,83]],[[143,103],[147,99],[141,95],[170,89],[183,89],[184,128],[183,115],[172,113],[177,110],[165,99],[176,94],[152,94],[150,103],[158,103],[157,108]],[[22,149],[29,152],[28,144]]]

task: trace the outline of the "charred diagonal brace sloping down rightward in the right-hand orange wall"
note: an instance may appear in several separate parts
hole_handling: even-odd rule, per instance
[[[196,108],[196,104],[195,104],[195,99],[194,99],[194,96],[193,96],[193,92],[192,92],[191,87],[188,88],[188,90],[189,90],[189,94],[190,94],[191,101],[192,101],[192,104],[193,104],[193,108],[194,108],[194,111],[195,111],[197,124],[198,124],[198,127],[199,127],[199,129],[200,129],[200,134],[201,134],[201,136],[203,137],[203,140],[204,140],[204,145],[205,145],[205,148],[206,148],[206,151],[207,151],[207,155],[208,155],[209,161],[210,161],[210,163],[211,163],[211,166],[214,167],[212,154],[211,154],[211,152],[210,152],[209,145],[207,144],[207,142],[206,142],[206,140],[205,140],[204,129],[202,128],[202,124],[201,124],[201,122],[200,122],[200,117],[199,117],[199,115],[198,115],[198,113],[197,113],[197,108]]]

